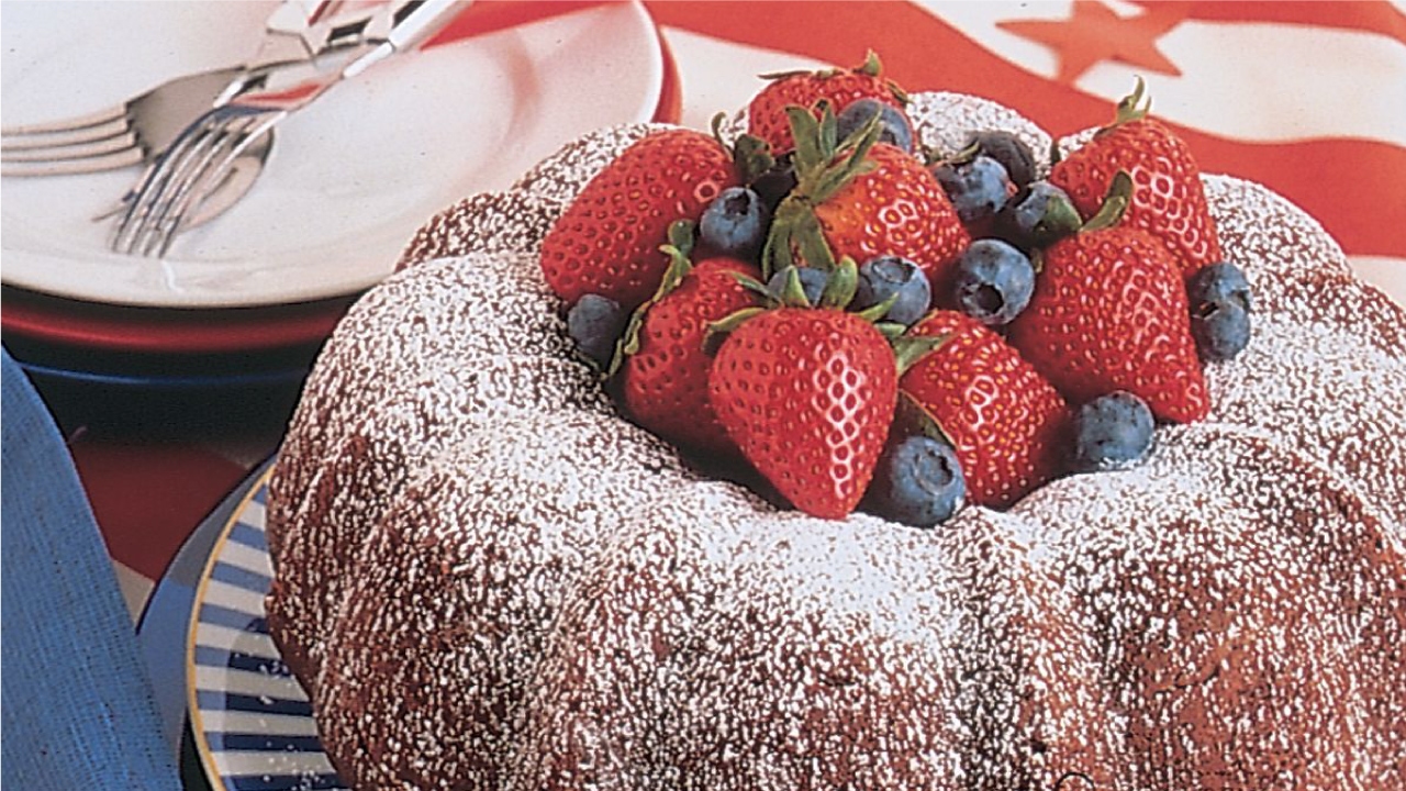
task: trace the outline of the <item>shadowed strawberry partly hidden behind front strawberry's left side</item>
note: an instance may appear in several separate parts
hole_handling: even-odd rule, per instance
[[[692,236],[692,224],[676,225]],[[699,452],[730,453],[735,446],[709,404],[713,357],[704,341],[709,325],[756,303],[735,276],[755,279],[759,272],[735,258],[693,265],[681,242],[666,248],[673,259],[659,293],[640,307],[626,332],[620,397],[636,422],[654,434]]]

